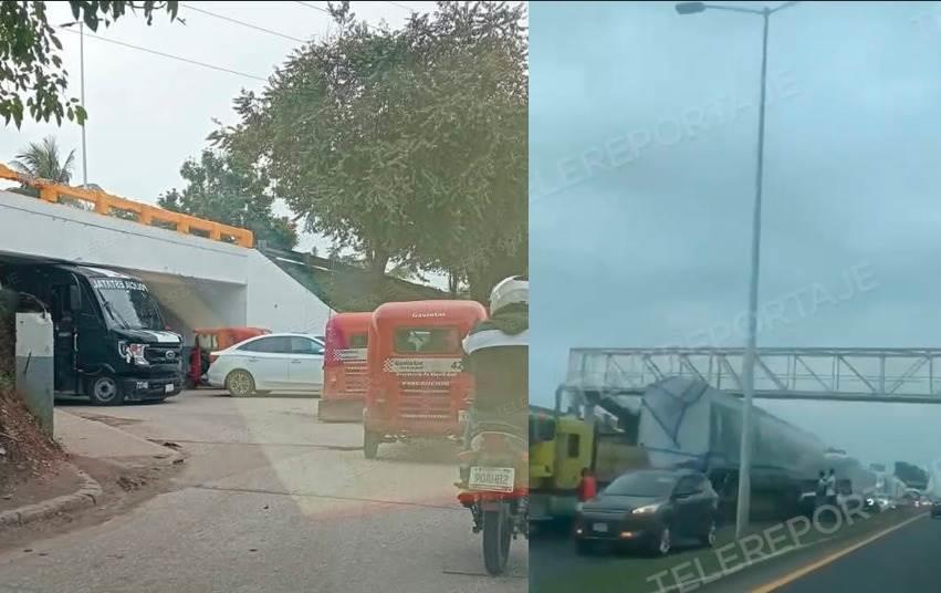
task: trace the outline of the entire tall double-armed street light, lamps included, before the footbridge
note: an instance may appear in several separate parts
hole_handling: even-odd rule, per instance
[[[682,2],[677,4],[680,14],[693,14],[707,9],[726,10],[731,12],[749,12],[761,14],[763,20],[762,52],[761,52],[761,101],[759,103],[759,146],[757,167],[755,168],[755,204],[752,214],[752,253],[751,280],[749,282],[749,335],[745,342],[745,355],[742,362],[742,436],[739,451],[739,495],[735,507],[735,539],[741,539],[749,527],[752,495],[752,409],[755,393],[755,358],[757,357],[757,309],[759,309],[759,271],[761,263],[761,204],[764,180],[764,111],[767,90],[767,29],[771,15],[797,2],[785,2],[777,8],[764,7],[761,10],[744,7],[725,7],[704,4],[702,2]]]

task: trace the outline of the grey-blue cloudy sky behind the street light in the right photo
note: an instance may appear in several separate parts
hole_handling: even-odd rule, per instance
[[[531,10],[531,399],[572,346],[743,345],[712,330],[746,306],[761,18]],[[830,298],[760,345],[941,345],[941,8],[806,2],[769,56],[761,300]],[[867,460],[941,457],[941,407],[762,405]]]

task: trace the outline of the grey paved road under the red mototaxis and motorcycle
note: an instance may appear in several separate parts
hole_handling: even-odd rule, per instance
[[[0,555],[0,592],[523,592],[483,574],[454,499],[451,446],[387,445],[366,460],[359,425],[316,402],[199,391],[172,403],[70,406],[188,456],[172,491],[108,522]],[[40,555],[42,554],[42,555]],[[6,586],[6,589],[4,589]]]

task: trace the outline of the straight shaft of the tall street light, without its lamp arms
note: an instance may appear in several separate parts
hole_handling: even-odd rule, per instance
[[[752,220],[752,272],[749,287],[749,337],[745,347],[744,368],[742,368],[744,403],[742,406],[742,450],[739,455],[739,500],[735,509],[735,538],[741,539],[749,526],[751,508],[751,462],[752,462],[752,399],[754,397],[754,370],[757,347],[757,300],[759,300],[759,263],[761,252],[761,195],[762,176],[764,174],[764,106],[765,79],[767,76],[767,24],[771,10],[765,7],[764,32],[762,35],[761,56],[761,103],[759,104],[759,154],[755,171],[755,207]]]

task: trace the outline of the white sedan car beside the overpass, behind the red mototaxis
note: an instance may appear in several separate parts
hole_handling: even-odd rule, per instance
[[[206,378],[234,397],[255,393],[306,392],[324,386],[324,344],[297,333],[260,335],[209,355]]]

